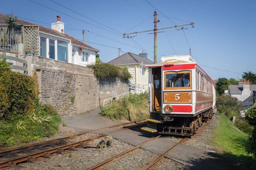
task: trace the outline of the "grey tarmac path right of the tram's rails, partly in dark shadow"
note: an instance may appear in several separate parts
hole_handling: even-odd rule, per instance
[[[234,170],[235,167],[231,159],[207,152],[191,146],[180,144],[173,148],[167,155],[167,158],[184,162],[182,169],[190,170]]]

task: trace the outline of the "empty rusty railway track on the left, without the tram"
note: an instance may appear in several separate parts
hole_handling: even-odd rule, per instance
[[[136,123],[136,124],[130,125],[129,127],[126,126],[126,125],[134,124],[134,123]],[[141,119],[141,120],[137,120],[137,121],[133,121],[133,122],[117,124],[114,126],[108,126],[108,127],[88,130],[88,131],[84,131],[84,132],[81,132],[78,134],[65,136],[63,138],[52,139],[52,140],[48,140],[45,142],[38,142],[38,143],[29,144],[29,145],[25,145],[25,146],[6,149],[3,151],[0,151],[0,157],[8,158],[6,160],[0,161],[0,168],[4,168],[7,166],[10,166],[12,168],[19,168],[19,165],[16,165],[16,164],[25,162],[25,161],[36,163],[37,161],[35,160],[35,158],[38,158],[41,156],[49,158],[49,157],[53,156],[53,155],[51,155],[52,153],[63,153],[67,149],[75,150],[74,148],[83,148],[83,147],[85,147],[84,144],[86,144],[92,140],[99,139],[99,138],[105,136],[106,134],[110,134],[112,132],[116,132],[116,131],[120,131],[120,130],[129,129],[129,128],[136,127],[136,126],[140,126],[145,123],[147,123],[147,122],[145,122],[145,119]],[[113,130],[111,132],[108,132],[108,133],[105,133],[102,135],[98,135],[95,137],[87,138],[84,140],[79,140],[76,142],[68,141],[68,139],[72,139],[76,136],[80,136],[85,133],[89,133],[89,132],[92,132],[95,130],[100,130],[100,129],[105,129],[105,128],[118,127],[118,126],[125,126],[125,128],[116,128],[116,130]],[[33,149],[38,149],[38,151],[32,151]],[[23,155],[21,155],[21,156],[14,155],[17,153],[22,153]]]

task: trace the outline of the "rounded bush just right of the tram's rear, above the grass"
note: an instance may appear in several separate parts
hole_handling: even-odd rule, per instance
[[[218,112],[226,115],[227,117],[237,116],[240,117],[242,109],[241,101],[230,94],[221,94],[217,96],[216,107]]]

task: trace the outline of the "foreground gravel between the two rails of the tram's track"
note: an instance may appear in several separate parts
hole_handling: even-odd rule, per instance
[[[144,149],[135,149],[117,159],[112,160],[102,170],[136,170],[141,169],[158,157],[157,154]]]

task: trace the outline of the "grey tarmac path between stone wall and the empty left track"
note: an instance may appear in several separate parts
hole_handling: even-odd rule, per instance
[[[91,129],[97,129],[102,127],[107,127],[111,125],[116,125],[122,123],[121,121],[113,121],[107,118],[104,118],[99,115],[100,109],[96,108],[90,111],[87,111],[83,114],[76,115],[65,119],[65,123],[77,131],[85,131]]]

